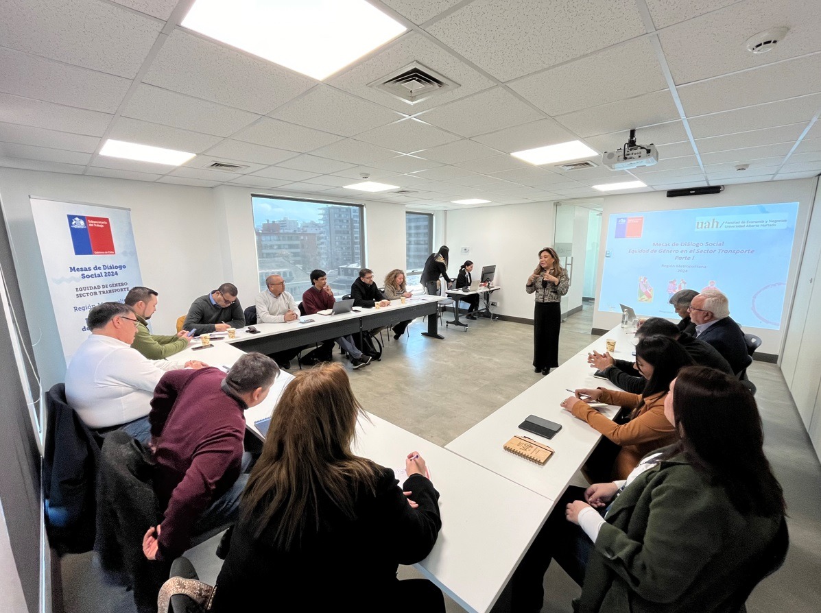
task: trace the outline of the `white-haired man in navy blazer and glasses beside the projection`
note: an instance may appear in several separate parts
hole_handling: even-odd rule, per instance
[[[695,337],[713,345],[730,363],[733,373],[737,375],[750,365],[753,359],[747,353],[744,332],[730,317],[726,295],[718,290],[704,290],[687,310],[695,323]]]

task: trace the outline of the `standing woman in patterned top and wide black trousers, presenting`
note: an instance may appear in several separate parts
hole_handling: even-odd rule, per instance
[[[559,327],[562,296],[570,288],[567,272],[550,247],[539,251],[539,266],[527,279],[525,291],[536,295],[533,313],[533,368],[543,375],[559,365]]]

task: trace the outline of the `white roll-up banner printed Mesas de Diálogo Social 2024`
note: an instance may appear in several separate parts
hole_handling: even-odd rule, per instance
[[[89,336],[85,317],[142,283],[131,210],[30,197],[66,364]]]

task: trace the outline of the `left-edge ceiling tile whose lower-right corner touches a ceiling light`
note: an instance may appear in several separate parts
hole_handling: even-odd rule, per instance
[[[112,117],[85,108],[64,107],[33,98],[0,94],[0,121],[6,123],[102,136]]]

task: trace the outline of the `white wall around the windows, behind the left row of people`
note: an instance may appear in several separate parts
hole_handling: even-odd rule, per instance
[[[65,375],[57,323],[48,295],[29,196],[131,208],[143,283],[159,292],[154,332],[172,333],[197,296],[235,283],[249,306],[259,291],[251,194],[265,190],[126,181],[0,168],[0,194],[11,229],[34,356],[46,389]],[[276,195],[271,193],[270,195]],[[319,194],[279,194],[319,198]],[[363,204],[362,200],[333,198]],[[377,278],[406,260],[405,206],[364,202],[366,265]],[[438,217],[443,231],[443,217]]]

